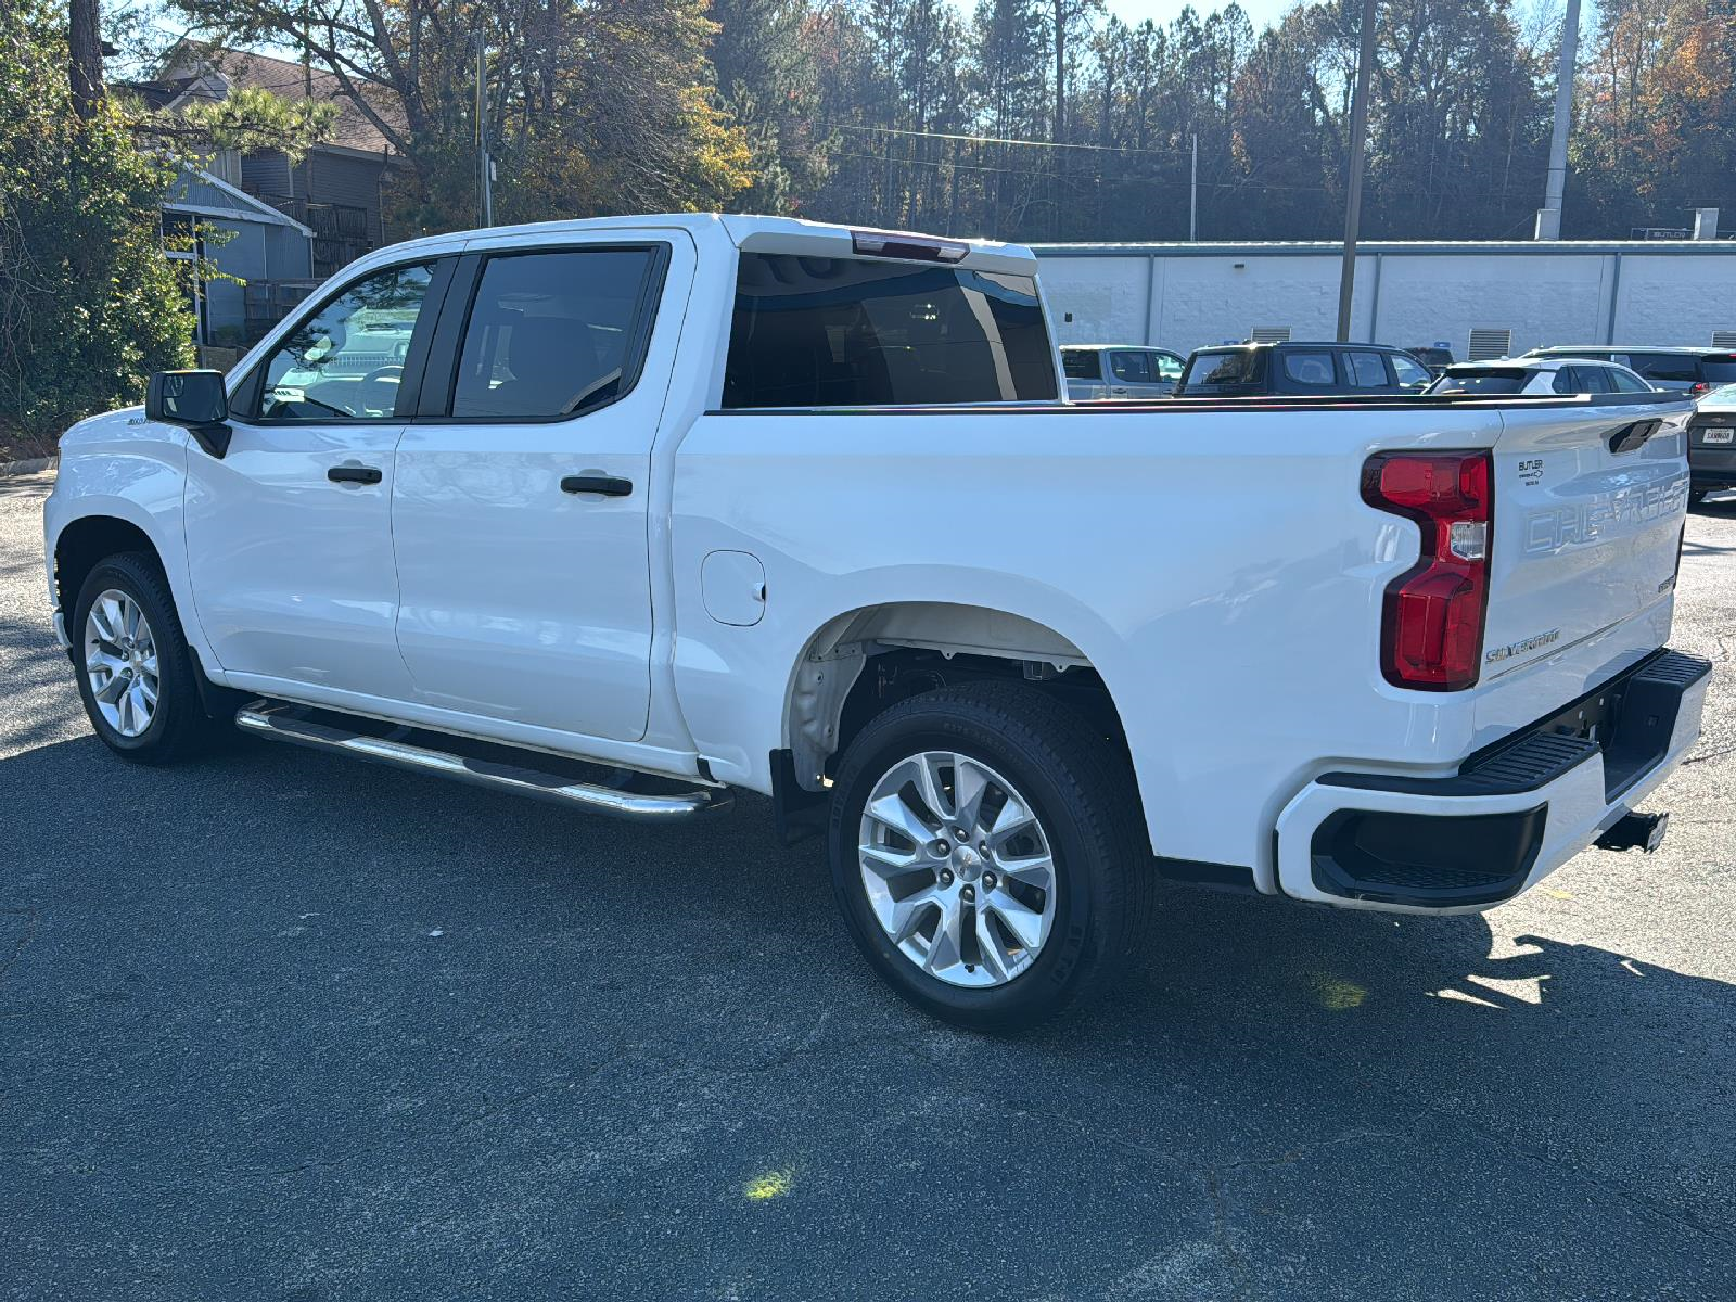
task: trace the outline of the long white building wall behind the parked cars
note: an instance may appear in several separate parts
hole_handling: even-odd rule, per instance
[[[1062,342],[1187,352],[1290,326],[1332,339],[1332,245],[1036,248]],[[1613,321],[1611,321],[1613,312]],[[1071,316],[1071,319],[1068,319]],[[1364,245],[1352,339],[1465,356],[1472,330],[1542,344],[1694,344],[1736,330],[1736,243]]]

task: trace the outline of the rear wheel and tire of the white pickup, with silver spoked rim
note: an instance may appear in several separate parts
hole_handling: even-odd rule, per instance
[[[894,705],[851,743],[832,802],[856,946],[918,1009],[983,1031],[1102,991],[1144,925],[1142,844],[1120,750],[1012,682]]]

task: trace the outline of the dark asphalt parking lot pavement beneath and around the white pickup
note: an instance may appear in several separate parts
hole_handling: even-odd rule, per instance
[[[0,1297],[1736,1297],[1736,496],[1654,858],[1455,920],[1175,889],[1118,998],[996,1042],[760,800],[111,759],[47,490],[0,481]]]

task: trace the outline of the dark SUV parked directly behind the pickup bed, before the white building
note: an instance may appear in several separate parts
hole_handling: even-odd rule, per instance
[[[1389,344],[1229,344],[1194,349],[1177,398],[1418,394],[1429,368]]]

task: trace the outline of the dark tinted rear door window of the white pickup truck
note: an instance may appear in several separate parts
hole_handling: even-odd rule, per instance
[[[625,396],[649,325],[651,248],[496,253],[483,264],[458,351],[451,413],[575,417]]]

